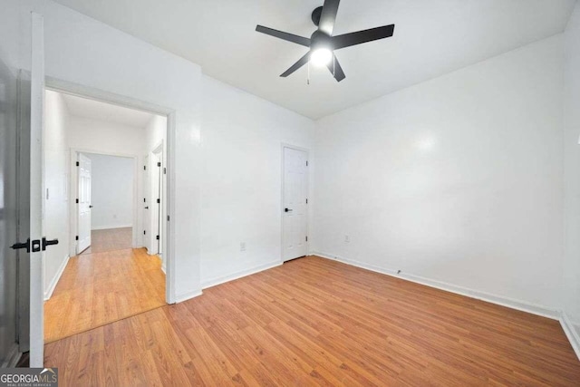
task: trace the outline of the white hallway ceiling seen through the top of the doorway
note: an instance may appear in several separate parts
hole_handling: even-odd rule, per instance
[[[144,129],[154,115],[146,111],[137,111],[71,94],[63,94],[63,99],[69,114],[72,116],[114,122],[135,128]]]

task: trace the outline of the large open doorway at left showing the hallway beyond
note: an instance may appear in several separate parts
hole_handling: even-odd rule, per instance
[[[161,263],[169,258],[161,231],[167,226],[158,216],[159,241],[148,251],[142,206],[148,188],[140,169],[153,160],[150,143],[166,143],[168,118],[62,89],[46,90],[44,113],[45,208],[61,208],[47,211],[45,223],[60,225],[53,232],[68,250],[44,259],[50,343],[167,305]],[[161,147],[151,156],[163,160],[168,152]],[[156,196],[167,197],[166,179],[157,181]],[[167,202],[155,203],[160,214]]]

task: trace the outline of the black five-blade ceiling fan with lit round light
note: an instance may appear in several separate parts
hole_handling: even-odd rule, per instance
[[[312,21],[314,25],[318,26],[318,29],[314,31],[310,38],[288,34],[259,24],[256,25],[258,33],[275,36],[276,38],[310,48],[308,53],[304,54],[298,62],[282,73],[281,77],[287,77],[304,66],[305,63],[311,61],[314,65],[328,67],[328,70],[333,73],[334,79],[337,82],[341,82],[346,78],[346,75],[344,75],[343,68],[338,63],[336,55],[334,55],[335,50],[392,36],[395,24],[333,36],[334,22],[336,21],[339,4],[340,0],[324,0],[323,6],[314,9]]]

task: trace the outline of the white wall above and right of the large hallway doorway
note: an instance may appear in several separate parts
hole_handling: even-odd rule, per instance
[[[3,40],[18,43],[17,65],[30,68],[30,12],[44,17],[45,70],[49,77],[111,92],[175,111],[175,160],[169,179],[175,188],[171,227],[175,230],[175,288],[180,300],[200,290],[200,90],[198,65],[146,44],[49,0],[22,0],[21,34]],[[16,5],[17,4],[17,5]],[[4,47],[4,45],[3,45]],[[121,76],[122,74],[122,76]],[[174,181],[173,181],[174,180]]]

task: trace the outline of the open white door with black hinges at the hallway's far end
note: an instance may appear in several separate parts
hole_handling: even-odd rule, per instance
[[[78,253],[91,246],[91,159],[79,153]]]

